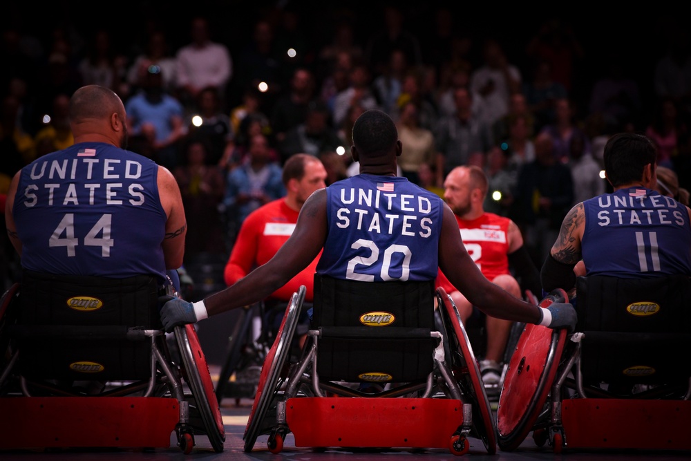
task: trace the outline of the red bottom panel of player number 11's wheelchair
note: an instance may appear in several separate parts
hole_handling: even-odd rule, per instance
[[[688,400],[565,399],[562,424],[569,449],[691,449]]]

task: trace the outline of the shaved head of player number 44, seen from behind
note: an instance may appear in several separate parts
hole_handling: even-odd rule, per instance
[[[127,146],[124,104],[111,89],[86,85],[70,98],[70,126],[73,135],[104,135],[123,149]],[[79,141],[77,141],[79,142]]]

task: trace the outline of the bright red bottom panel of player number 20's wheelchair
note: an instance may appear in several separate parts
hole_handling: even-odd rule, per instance
[[[463,424],[456,399],[296,397],[285,406],[295,446],[444,448]]]

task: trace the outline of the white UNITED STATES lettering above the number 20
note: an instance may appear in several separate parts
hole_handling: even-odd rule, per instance
[[[432,234],[432,219],[424,216],[432,211],[432,203],[426,197],[351,187],[341,190],[341,203],[345,205],[337,211],[337,226],[341,229],[354,225],[377,234],[396,232],[424,238]]]

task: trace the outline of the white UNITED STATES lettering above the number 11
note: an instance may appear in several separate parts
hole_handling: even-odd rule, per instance
[[[672,197],[614,196],[598,197],[598,225],[675,224],[683,226],[681,205]],[[642,207],[642,208],[641,208]]]

